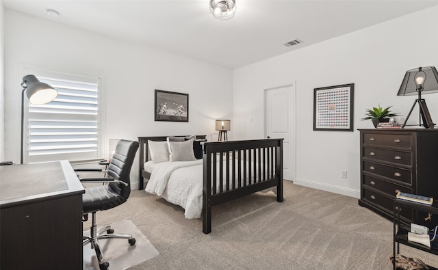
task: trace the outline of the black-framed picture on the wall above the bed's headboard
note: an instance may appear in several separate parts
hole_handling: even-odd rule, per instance
[[[155,89],[155,121],[189,122],[189,94]]]

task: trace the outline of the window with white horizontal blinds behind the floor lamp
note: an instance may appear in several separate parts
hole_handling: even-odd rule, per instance
[[[65,74],[56,77],[54,72],[50,75],[36,75],[55,88],[58,96],[44,105],[29,103],[27,162],[101,157],[100,80]]]

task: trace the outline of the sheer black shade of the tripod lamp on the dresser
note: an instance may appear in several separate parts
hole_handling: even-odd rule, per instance
[[[425,76],[424,83],[421,85],[420,91],[422,94],[432,94],[438,92],[438,72],[435,66],[426,66],[424,68],[414,68],[408,70],[404,75],[400,90],[397,96],[413,96],[418,94],[419,86],[415,82],[415,78],[419,72],[423,72]]]

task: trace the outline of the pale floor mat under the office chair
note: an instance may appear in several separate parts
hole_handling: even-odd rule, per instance
[[[131,219],[114,222],[111,228],[114,233],[132,234],[136,244],[129,245],[127,239],[99,240],[105,261],[110,263],[108,270],[127,269],[159,255],[158,250]],[[84,231],[83,235],[90,235],[90,230]],[[99,270],[96,253],[90,244],[83,247],[83,270]]]

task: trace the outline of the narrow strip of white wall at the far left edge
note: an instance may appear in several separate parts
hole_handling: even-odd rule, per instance
[[[5,77],[5,19],[4,19],[4,9],[3,9],[3,1],[0,0],[0,161],[4,160],[5,157],[5,124],[4,124],[4,116],[5,116],[5,85],[4,85],[4,77]]]

